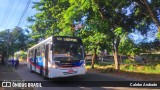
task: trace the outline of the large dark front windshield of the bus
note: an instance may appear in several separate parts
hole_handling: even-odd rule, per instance
[[[53,59],[56,61],[73,61],[84,59],[83,46],[80,44],[55,44]]]

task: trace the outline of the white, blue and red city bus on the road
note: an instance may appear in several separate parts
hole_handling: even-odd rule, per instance
[[[44,79],[84,75],[84,57],[81,38],[51,36],[29,48],[27,66]]]

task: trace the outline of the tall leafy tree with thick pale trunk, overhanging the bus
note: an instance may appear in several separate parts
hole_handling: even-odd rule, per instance
[[[74,21],[80,21],[81,18],[86,16],[86,23],[93,24],[92,27],[95,26],[93,30],[98,30],[109,38],[106,41],[111,42],[113,45],[112,51],[114,54],[115,68],[119,69],[119,43],[127,35],[127,32],[132,31],[132,28],[135,26],[134,18],[136,18],[132,15],[126,15],[125,10],[122,8],[131,7],[132,3],[120,0],[69,0],[69,3],[70,7],[63,15],[63,21],[66,23],[60,24],[68,27]]]

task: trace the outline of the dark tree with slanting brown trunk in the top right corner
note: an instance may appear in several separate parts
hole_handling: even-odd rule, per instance
[[[143,32],[147,32],[148,26],[154,23],[157,26],[157,38],[160,39],[160,0],[130,0],[135,3],[135,16],[138,16],[142,22],[139,26],[143,26]],[[143,33],[142,32],[142,33]]]

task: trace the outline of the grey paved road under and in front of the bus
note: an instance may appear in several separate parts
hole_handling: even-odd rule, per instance
[[[42,77],[37,73],[30,73],[29,69],[27,68],[27,62],[21,62],[16,72],[18,75],[26,80],[26,81],[48,81],[42,79]],[[54,81],[55,79],[51,79],[49,81]],[[130,78],[123,78],[120,76],[112,76],[109,74],[100,74],[95,72],[87,72],[86,75],[81,76],[73,76],[67,78],[58,78],[56,80],[60,81],[134,81],[134,79]]]

